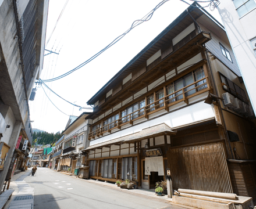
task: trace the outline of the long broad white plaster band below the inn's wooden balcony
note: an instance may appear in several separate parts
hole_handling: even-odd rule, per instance
[[[130,128],[120,130],[113,134],[106,135],[104,137],[95,139],[90,142],[90,146],[96,145],[98,143],[107,142],[112,139],[120,138],[129,134],[134,134],[140,132],[142,129],[150,128],[155,125],[165,123],[169,125],[170,128],[176,128],[184,125],[189,125],[193,122],[200,122],[204,120],[210,120],[215,118],[214,110],[211,105],[202,102],[195,103],[184,107],[180,110],[173,111],[169,114],[165,114],[158,118],[152,118],[152,120],[145,121],[138,125],[133,125]],[[122,145],[124,146],[124,145]],[[143,146],[143,145],[142,145]]]

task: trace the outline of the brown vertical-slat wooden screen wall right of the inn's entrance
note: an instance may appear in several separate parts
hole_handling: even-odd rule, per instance
[[[173,189],[232,193],[223,143],[169,149]]]

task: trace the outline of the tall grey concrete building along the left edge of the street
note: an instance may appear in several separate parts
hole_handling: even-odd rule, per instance
[[[30,140],[29,98],[42,70],[48,3],[0,1],[0,134],[5,153],[0,188],[17,164],[17,141]]]

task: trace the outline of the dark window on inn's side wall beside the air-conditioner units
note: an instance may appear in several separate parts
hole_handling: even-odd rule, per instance
[[[244,89],[240,88],[234,82],[230,81],[229,78],[227,78],[225,75],[222,75],[221,73],[219,73],[219,76],[221,77],[222,84],[225,84],[222,86],[222,88],[225,91],[231,93],[235,97],[247,103],[246,93],[244,92]]]

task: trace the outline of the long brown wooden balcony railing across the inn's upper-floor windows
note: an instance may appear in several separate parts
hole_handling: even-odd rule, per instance
[[[148,115],[155,113],[159,110],[165,109],[169,111],[169,106],[175,105],[180,102],[188,102],[189,98],[209,91],[209,79],[208,77],[202,78],[198,81],[193,82],[186,87],[179,89],[169,95],[164,96],[161,99],[152,102],[141,109],[134,111],[133,113],[127,114],[127,116],[120,117],[109,124],[102,125],[102,127],[91,131],[88,135],[88,139],[95,138],[95,136],[103,135],[105,132],[111,132],[112,129],[119,128],[125,124],[133,124],[133,121],[140,118],[148,118]]]

